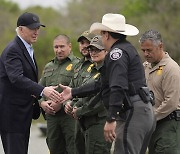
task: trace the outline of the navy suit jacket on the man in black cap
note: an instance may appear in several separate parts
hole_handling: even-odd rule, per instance
[[[21,39],[16,36],[0,57],[0,129],[27,132],[32,121],[33,96],[39,97],[38,71]]]

